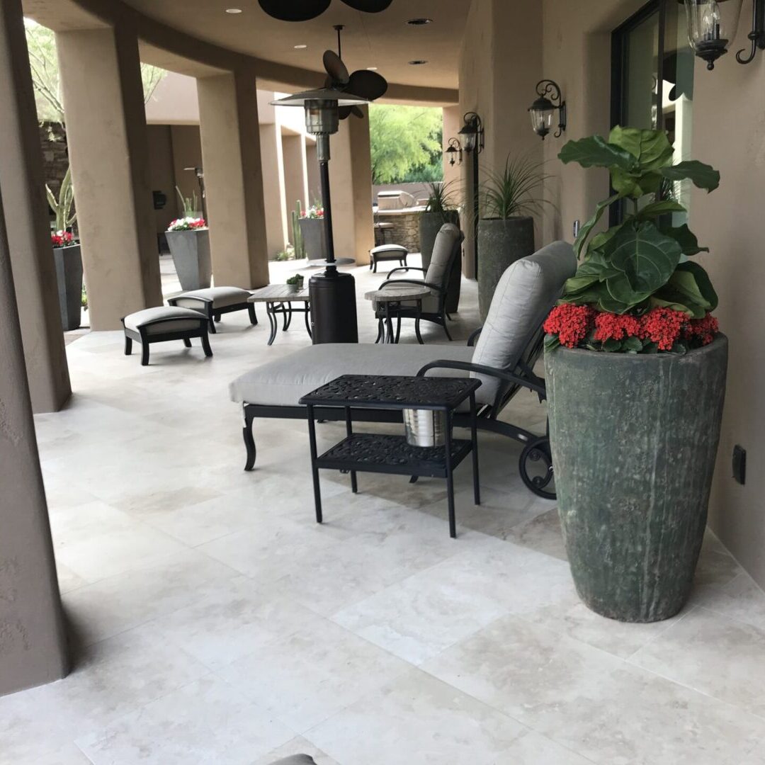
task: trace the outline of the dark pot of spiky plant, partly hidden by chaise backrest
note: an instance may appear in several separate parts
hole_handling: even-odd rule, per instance
[[[534,221],[528,217],[478,223],[478,311],[486,321],[497,282],[516,260],[534,252]]]

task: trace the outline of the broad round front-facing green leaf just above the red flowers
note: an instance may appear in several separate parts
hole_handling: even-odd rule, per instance
[[[608,291],[617,300],[639,302],[666,284],[682,255],[680,245],[646,221],[637,228],[624,226],[604,246],[604,255],[624,278],[608,279]],[[627,285],[634,295],[627,295]],[[642,295],[640,300],[637,295]]]

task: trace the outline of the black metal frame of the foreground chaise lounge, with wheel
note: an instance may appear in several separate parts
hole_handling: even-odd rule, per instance
[[[468,346],[475,344],[480,331],[478,329],[470,335],[467,341]],[[532,371],[532,366],[534,366],[536,360],[539,359],[539,355],[542,353],[543,342],[544,333],[542,332],[542,327],[539,327],[526,343],[526,348],[524,353],[522,353],[522,360],[519,361],[514,369],[496,369],[493,366],[483,366],[482,364],[464,361],[437,360],[423,366],[417,374],[418,376],[425,376],[431,369],[459,369],[464,372],[474,372],[499,380],[500,386],[497,389],[494,401],[491,404],[480,405],[477,411],[477,427],[479,430],[513,438],[514,441],[519,441],[523,444],[524,448],[519,457],[518,466],[523,483],[537,496],[547,500],[555,500],[555,491],[548,488],[553,478],[549,431],[545,430],[545,435],[539,436],[524,428],[520,428],[518,425],[501,422],[499,419],[500,412],[522,388],[535,392],[539,396],[540,403],[547,398],[544,379],[535,375]],[[245,470],[252,470],[255,467],[257,449],[255,437],[252,435],[252,422],[256,418],[308,419],[307,409],[299,405],[269,406],[245,403],[243,410],[243,438],[247,450]],[[350,416],[353,422],[402,422],[401,412],[382,409],[352,409]],[[314,417],[319,422],[344,422],[346,414],[342,408],[317,406],[314,407]],[[455,413],[453,422],[457,428],[470,428],[470,415]],[[544,474],[542,476],[532,476],[529,474],[529,462],[538,463],[540,461],[545,467]]]

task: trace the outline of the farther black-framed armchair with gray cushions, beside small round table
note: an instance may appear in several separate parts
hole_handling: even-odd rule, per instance
[[[399,330],[401,329],[402,319],[421,319],[422,321],[431,321],[433,324],[438,324],[440,327],[444,327],[446,337],[451,340],[449,329],[446,326],[446,321],[449,318],[446,312],[446,293],[449,286],[449,275],[451,274],[454,260],[460,256],[462,248],[462,242],[464,234],[454,225],[454,223],[444,223],[441,226],[441,230],[438,232],[435,238],[435,244],[433,246],[433,255],[431,256],[431,262],[428,266],[428,272],[425,274],[424,279],[412,279],[412,278],[388,278],[385,282],[382,282],[380,289],[385,289],[389,285],[418,285],[420,287],[427,287],[431,291],[431,297],[425,298],[422,301],[422,311],[418,309],[414,303],[402,302],[391,311],[392,317],[396,318],[398,329],[396,330],[396,341],[399,339]],[[425,269],[420,269],[417,266],[409,265],[401,269],[393,269],[389,273],[389,277],[400,272],[409,271],[421,271],[425,272]],[[382,337],[382,320],[386,316],[377,304],[373,304],[375,309],[375,316],[378,322],[379,332],[378,341]]]

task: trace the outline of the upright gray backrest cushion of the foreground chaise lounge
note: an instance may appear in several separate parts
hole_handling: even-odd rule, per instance
[[[510,265],[496,285],[473,363],[512,372],[576,268],[574,248],[566,242],[549,244]],[[477,377],[483,387],[496,391],[496,380]],[[482,390],[484,399],[486,392]]]

